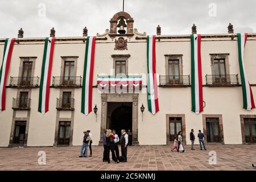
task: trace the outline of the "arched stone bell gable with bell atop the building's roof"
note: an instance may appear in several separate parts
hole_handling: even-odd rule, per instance
[[[133,37],[133,18],[130,14],[125,11],[116,13],[112,19],[110,19],[110,34],[109,36],[113,39],[116,36],[127,36],[128,38]],[[118,28],[118,30],[117,30]],[[127,31],[125,30],[127,28]]]

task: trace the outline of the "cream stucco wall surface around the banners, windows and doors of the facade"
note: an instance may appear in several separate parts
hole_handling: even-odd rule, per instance
[[[209,40],[209,41],[205,41]],[[218,41],[212,41],[218,40]],[[226,40],[226,41],[222,41]],[[35,74],[41,73],[44,42],[20,42],[14,45],[11,58],[10,70],[6,85],[9,85],[10,76],[18,76],[19,57],[36,56]],[[130,54],[128,59],[128,72],[133,75],[144,75],[147,72],[146,41],[135,40],[135,36],[128,39],[128,50],[114,50],[114,41],[97,41],[94,60],[93,85],[97,84],[97,75],[113,72],[112,54]],[[256,84],[256,72],[254,58],[256,57],[256,39],[249,38],[245,48],[245,68],[251,84]],[[167,39],[156,42],[156,72],[166,75],[164,55],[183,55],[183,75],[191,75],[191,51],[189,39]],[[79,56],[77,59],[77,76],[82,76],[84,65],[85,43],[82,41],[59,42],[56,41],[53,55],[52,76],[60,76],[61,56]],[[0,43],[0,60],[2,60],[3,42]],[[237,40],[228,38],[203,39],[201,43],[201,58],[203,84],[205,75],[211,75],[210,53],[229,53],[229,69],[231,75],[239,73]],[[52,77],[51,77],[52,83]],[[143,83],[145,83],[143,81]],[[240,81],[241,83],[241,81]],[[27,146],[53,146],[56,123],[56,98],[59,97],[60,89],[51,88],[49,98],[49,111],[46,114],[39,113],[38,97],[39,88],[31,91],[31,114],[28,129]],[[252,86],[256,97],[256,88]],[[13,98],[16,98],[16,89],[6,89],[6,110],[0,113],[0,146],[9,144],[13,109]],[[142,114],[138,111],[138,140],[140,144],[166,144],[166,114],[185,114],[186,140],[189,144],[189,132],[193,128],[203,130],[203,114],[222,114],[224,142],[225,144],[242,144],[240,114],[256,114],[256,110],[246,111],[242,109],[242,88],[203,88],[203,97],[206,103],[204,112],[195,114],[191,111],[191,88],[159,88],[159,113],[152,115],[147,111],[146,92],[139,94],[139,107],[146,107]],[[81,110],[81,88],[75,89],[75,118],[73,127],[73,145],[82,142],[82,131],[90,129],[93,134],[93,143],[100,140],[101,126],[101,94],[93,88],[93,107],[97,104],[98,114],[92,112],[85,116]],[[65,114],[63,114],[65,115]],[[152,136],[156,137],[152,137]],[[197,143],[197,142],[196,142]]]

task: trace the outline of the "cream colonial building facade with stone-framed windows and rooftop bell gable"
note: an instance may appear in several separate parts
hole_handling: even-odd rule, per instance
[[[92,85],[84,88],[88,78],[84,74],[85,68],[88,69],[85,60],[89,59],[85,52],[90,51],[87,44],[91,40],[86,27],[81,37],[55,37],[55,30],[51,30],[50,37],[54,39],[47,41],[48,46],[54,43],[54,50],[49,54],[52,69],[47,75],[49,88],[45,87],[49,92],[45,113],[39,112],[39,102],[42,102],[39,98],[40,92],[43,93],[40,89],[44,85],[42,67],[43,60],[47,59],[44,52],[47,41],[23,38],[23,31],[19,30],[3,85],[6,90],[5,110],[0,113],[0,146],[79,146],[85,129],[91,130],[93,144],[101,143],[105,129],[115,129],[118,133],[121,129],[130,129],[133,143],[140,145],[169,144],[178,131],[182,131],[184,142],[190,144],[191,129],[195,134],[202,130],[208,144],[256,142],[256,110],[253,102],[250,102],[251,108],[243,109],[248,95],[245,96],[246,87],[242,86],[246,80],[250,82],[253,100],[253,95],[256,97],[256,34],[246,34],[246,46],[241,52],[240,34],[234,34],[231,24],[228,34],[210,35],[197,35],[194,25],[192,35],[197,35],[197,39],[193,41],[200,41],[201,46],[194,48],[197,53],[201,50],[199,55],[196,53],[201,60],[192,61],[195,50],[191,41],[195,36],[161,35],[158,26],[157,35],[150,39],[145,32],[138,32],[133,23],[133,18],[121,11],[110,19],[110,30],[97,34],[94,55],[90,55],[94,64],[91,63],[88,73]],[[153,46],[150,40],[154,40]],[[151,46],[153,56],[148,53]],[[5,51],[5,39],[0,39],[1,60]],[[192,73],[192,66],[201,68],[201,73]],[[154,73],[154,68],[156,74],[151,80],[147,73],[150,69]],[[153,109],[148,100],[152,96],[148,94],[152,83]],[[197,87],[202,109],[198,113],[192,111],[192,89]],[[91,96],[86,93],[90,88]],[[83,92],[85,100],[89,98],[85,108]],[[47,94],[43,93],[42,97],[47,99]],[[86,107],[88,115],[86,111],[81,112]]]

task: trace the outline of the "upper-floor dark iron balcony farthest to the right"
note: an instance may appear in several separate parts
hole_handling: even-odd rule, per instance
[[[207,86],[238,86],[238,74],[237,75],[206,75]]]

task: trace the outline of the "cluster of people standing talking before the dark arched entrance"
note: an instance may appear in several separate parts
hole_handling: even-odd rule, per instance
[[[129,137],[125,130],[121,130],[121,138],[115,133],[115,130],[105,130],[102,136],[103,140],[103,162],[110,163],[109,154],[112,152],[112,160],[115,163],[127,162],[127,146],[129,144]],[[118,142],[121,145],[121,157],[119,157]]]

